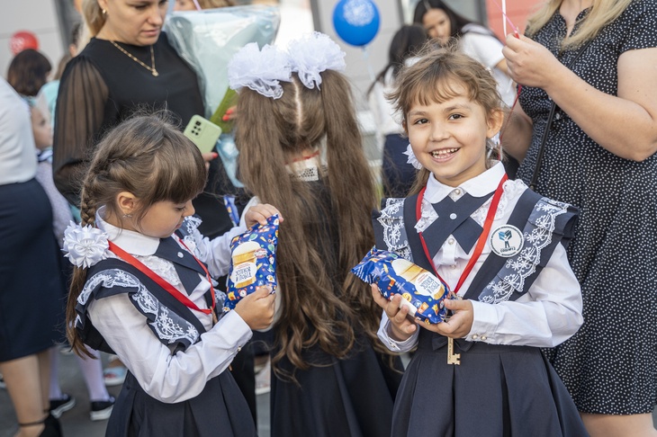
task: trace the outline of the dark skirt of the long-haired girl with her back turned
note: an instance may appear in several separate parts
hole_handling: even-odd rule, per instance
[[[304,356],[321,365],[295,373],[299,385],[272,374],[272,437],[383,437],[391,433],[401,361],[393,370],[361,340],[351,356],[338,360],[313,347]],[[292,370],[290,361],[280,364]]]

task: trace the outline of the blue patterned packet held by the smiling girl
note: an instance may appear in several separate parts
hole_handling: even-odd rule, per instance
[[[455,299],[446,283],[431,272],[376,247],[351,272],[368,284],[378,285],[386,299],[401,294],[401,306],[408,307],[410,316],[428,325],[445,321],[447,309],[443,300]]]

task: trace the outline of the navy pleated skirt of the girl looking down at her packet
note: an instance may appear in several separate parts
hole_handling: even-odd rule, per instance
[[[247,401],[228,370],[191,399],[165,404],[148,396],[130,372],[116,399],[106,437],[255,437]]]

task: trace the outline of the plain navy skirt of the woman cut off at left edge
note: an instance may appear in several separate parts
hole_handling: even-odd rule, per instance
[[[35,179],[0,185],[0,361],[60,340],[67,291],[52,209]]]

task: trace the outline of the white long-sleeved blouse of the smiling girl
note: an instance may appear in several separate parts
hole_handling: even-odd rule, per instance
[[[439,183],[433,175],[429,177],[427,190],[422,201],[422,213],[416,228],[421,231],[437,218],[431,206],[450,196],[453,200],[469,193],[473,197],[485,196],[497,188],[504,174],[504,166],[498,163],[483,174],[453,188]],[[520,195],[527,190],[522,181],[507,181],[500,199],[492,228],[507,223]],[[471,216],[483,226],[491,205],[491,199]],[[466,264],[474,252],[466,254],[454,236],[449,236],[433,259],[437,272],[454,290]],[[482,255],[473,266],[472,272],[465,279],[458,291],[464,296],[468,287],[491,254],[491,245],[487,241]],[[491,305],[472,300],[474,310],[473,327],[465,340],[491,344],[527,345],[535,347],[553,347],[563,343],[575,334],[583,323],[581,316],[581,289],[568,263],[563,245],[556,245],[552,257],[536,278],[526,294],[515,301],[504,301]],[[397,342],[390,336],[390,320],[383,312],[379,328],[379,338],[394,352],[408,352],[418,343],[419,330],[406,341]],[[421,324],[420,324],[421,326]]]

